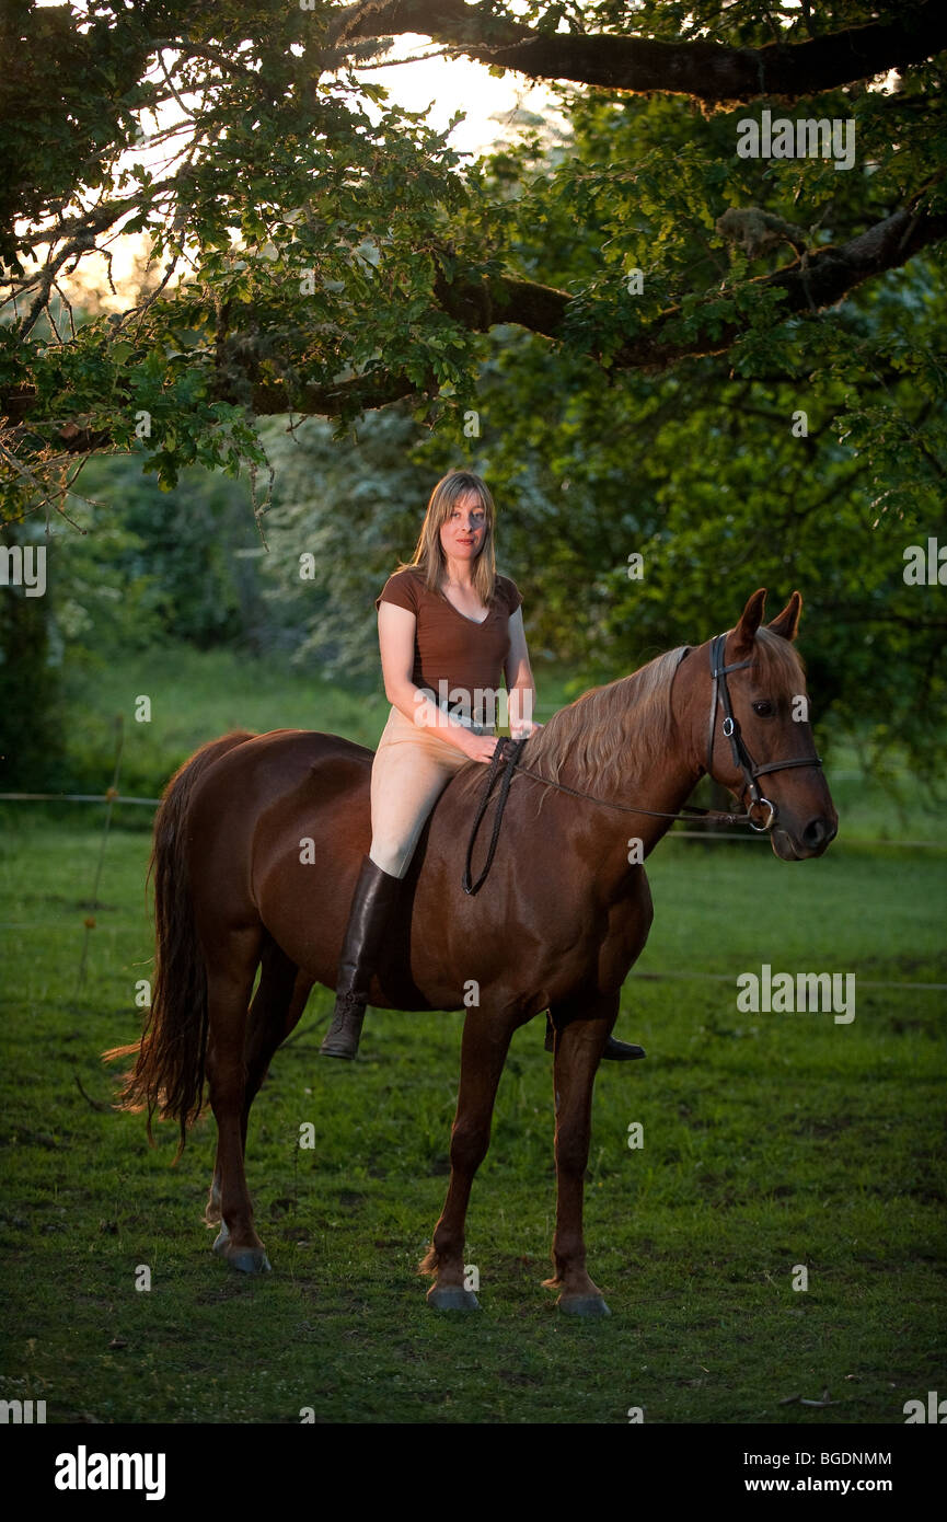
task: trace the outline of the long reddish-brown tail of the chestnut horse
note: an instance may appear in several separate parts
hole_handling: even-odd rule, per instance
[[[201,1114],[207,1055],[207,970],[190,898],[184,822],[195,785],[207,767],[251,738],[251,731],[236,729],[221,740],[210,740],[178,767],[161,794],[148,866],[148,880],[154,872],[155,901],[151,1006],[139,1041],[102,1053],[107,1062],[136,1058],[132,1070],[125,1075],[116,1108],[148,1110],[148,1140],[152,1146],[154,1113],[160,1120],[177,1120],[181,1138],[175,1163],[184,1151],[187,1128]]]

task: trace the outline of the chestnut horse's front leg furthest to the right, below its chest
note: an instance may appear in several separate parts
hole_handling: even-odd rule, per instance
[[[553,1011],[553,1017],[565,1011]],[[585,1014],[585,1011],[583,1011]],[[592,1085],[615,1024],[618,997],[598,1000],[592,1018],[571,1020],[556,1030],[556,1234],[553,1263],[556,1274],[544,1282],[559,1289],[557,1304],[577,1317],[611,1315],[601,1291],[585,1266],[582,1204],[585,1170],[592,1132]]]

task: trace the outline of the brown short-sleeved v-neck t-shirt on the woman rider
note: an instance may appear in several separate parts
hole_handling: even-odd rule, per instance
[[[407,566],[385,581],[379,603],[407,607],[417,619],[414,629],[414,686],[428,688],[435,697],[446,688],[467,693],[498,693],[502,664],[510,651],[510,615],[522,603],[515,581],[496,577],[493,601],[483,624],[458,612],[440,592],[431,592],[422,571]]]

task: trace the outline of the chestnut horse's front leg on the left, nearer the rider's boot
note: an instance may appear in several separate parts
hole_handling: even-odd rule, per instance
[[[419,1272],[434,1274],[428,1304],[437,1310],[477,1310],[464,1286],[464,1221],[474,1175],[490,1146],[490,1119],[496,1085],[507,1059],[518,1018],[490,1017],[472,1009],[464,1021],[460,1053],[457,1114],[451,1128],[451,1183],[431,1251]]]

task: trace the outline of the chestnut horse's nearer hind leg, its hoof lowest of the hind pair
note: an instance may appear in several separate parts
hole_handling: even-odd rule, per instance
[[[260,927],[231,930],[225,951],[207,966],[207,1081],[218,1123],[218,1193],[221,1230],[215,1253],[245,1274],[269,1269],[253,1225],[253,1204],[244,1170],[244,1108],[247,1097],[247,1006],[260,957]],[[213,1184],[212,1184],[213,1195]]]

